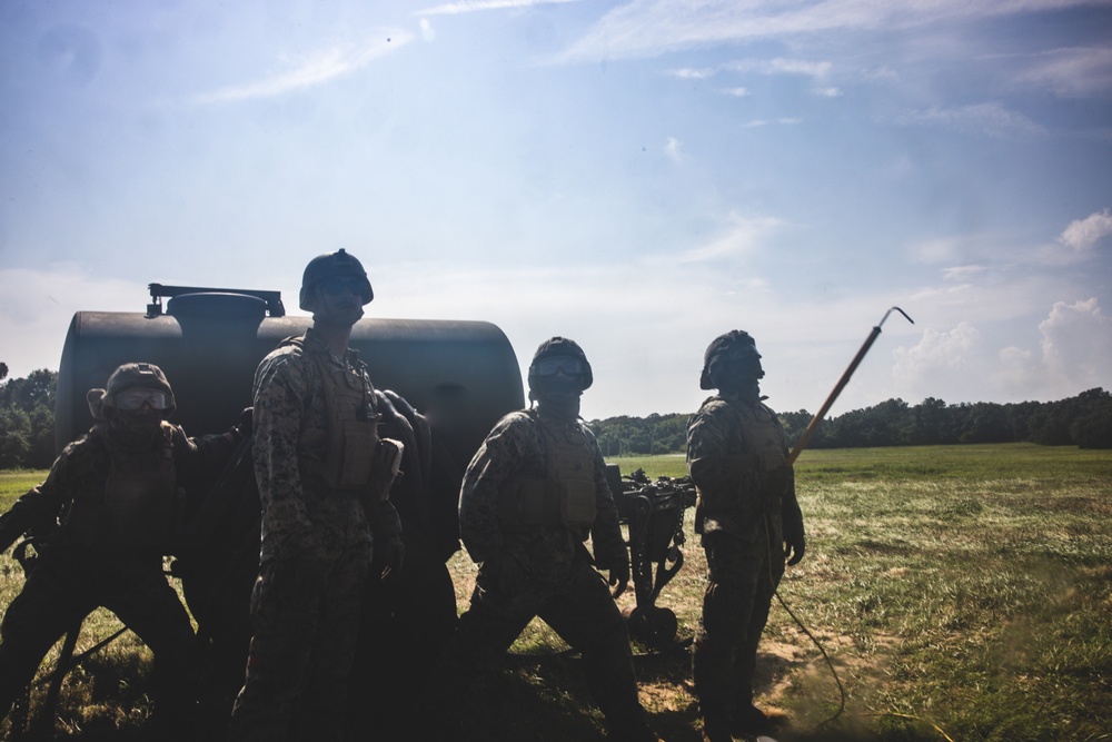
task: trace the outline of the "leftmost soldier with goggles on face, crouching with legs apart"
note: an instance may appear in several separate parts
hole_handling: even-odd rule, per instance
[[[169,382],[146,363],[120,366],[88,399],[97,424],[0,517],[0,552],[31,533],[40,554],[0,627],[0,716],[54,642],[103,606],[153,652],[156,721],[183,733],[198,647],[162,556],[179,545],[185,487],[211,484],[250,435],[250,410],[227,433],[187,437],[166,422]]]

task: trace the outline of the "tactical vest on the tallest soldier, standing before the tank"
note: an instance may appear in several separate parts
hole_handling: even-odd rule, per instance
[[[292,343],[301,345],[297,340]],[[375,388],[361,362],[340,368],[329,363],[325,355],[309,354],[324,387],[328,439],[322,458],[320,451],[302,453],[299,461],[301,476],[332,491],[364,492],[370,483],[371,463],[378,443]]]

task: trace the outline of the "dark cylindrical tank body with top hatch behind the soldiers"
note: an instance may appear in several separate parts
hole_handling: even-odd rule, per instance
[[[262,357],[311,324],[308,317],[266,316],[266,306],[229,290],[175,296],[166,314],[73,315],[58,372],[57,448],[92,425],[86,393],[132,360],[166,373],[178,406],[171,422],[189,435],[226,431],[251,405]],[[376,387],[396,392],[428,418],[460,468],[498,418],[525,404],[513,346],[490,323],[361,319],[350,346]]]

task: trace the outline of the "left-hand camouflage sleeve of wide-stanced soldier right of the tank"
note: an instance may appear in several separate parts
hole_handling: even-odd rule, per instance
[[[505,548],[498,523],[503,484],[525,461],[530,431],[527,418],[502,418],[475,453],[459,488],[459,536],[475,562],[486,562]]]

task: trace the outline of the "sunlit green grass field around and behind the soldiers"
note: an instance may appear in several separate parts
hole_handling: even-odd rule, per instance
[[[614,463],[623,473],[684,474],[681,456]],[[845,709],[831,721],[837,682],[774,604],[757,701],[788,714],[781,742],[1112,740],[1112,452],[808,451],[796,471],[807,555],[780,592],[828,654]],[[0,507],[43,474],[0,474]],[[687,521],[686,563],[657,601],[676,613],[681,637],[694,631],[703,591]],[[466,554],[449,567],[465,607],[474,567]],[[10,552],[0,557],[0,605],[21,581]],[[90,624],[81,646],[118,626],[110,616]],[[492,681],[489,708],[459,739],[603,739],[578,661],[563,649],[534,622]],[[687,651],[635,650],[654,728],[669,742],[696,742]],[[138,739],[148,670],[133,639],[96,655],[62,691],[59,735]]]

